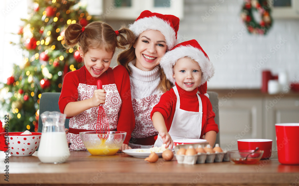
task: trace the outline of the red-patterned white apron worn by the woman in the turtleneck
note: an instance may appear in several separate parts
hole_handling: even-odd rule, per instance
[[[163,93],[160,92],[142,99],[132,99],[132,106],[135,115],[135,128],[131,134],[132,138],[129,146],[133,149],[153,147],[153,144],[155,143],[153,137],[152,144],[138,144],[138,141],[134,141],[134,138],[151,138],[151,136],[158,134],[152,124],[152,120],[150,119],[150,113],[152,112],[152,108],[159,102],[162,94]]]

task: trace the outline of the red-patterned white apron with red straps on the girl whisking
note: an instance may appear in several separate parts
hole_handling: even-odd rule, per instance
[[[83,70],[81,70],[83,69]],[[78,100],[86,100],[93,96],[94,91],[97,89],[97,86],[87,85],[85,79],[85,70],[80,68],[80,83],[78,85]],[[111,68],[107,70],[109,77],[109,84],[103,85],[103,88],[106,90],[106,100],[103,104],[103,108],[106,112],[107,120],[110,124],[110,130],[116,130],[117,121],[118,121],[118,111],[121,106],[121,98],[118,93],[117,87],[114,83],[113,71]],[[97,115],[99,112],[99,107],[92,107],[70,119],[69,128],[75,129],[76,131],[95,131],[97,124]],[[70,129],[70,131],[71,131]],[[79,130],[78,130],[79,129]],[[70,150],[86,150],[79,132],[68,132],[67,140],[71,143]]]

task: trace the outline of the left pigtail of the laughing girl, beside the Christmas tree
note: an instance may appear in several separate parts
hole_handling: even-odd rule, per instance
[[[77,43],[80,41],[82,35],[82,26],[78,23],[74,23],[66,28],[64,33],[65,44],[63,45],[65,48],[74,48]]]

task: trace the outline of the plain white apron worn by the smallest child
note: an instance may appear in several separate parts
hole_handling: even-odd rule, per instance
[[[176,139],[199,139],[202,131],[202,100],[197,95],[199,102],[199,112],[191,112],[180,109],[180,96],[176,86],[173,87],[176,94],[176,111],[169,129],[169,135],[172,140]],[[160,135],[154,144],[154,147],[161,147],[163,140]]]

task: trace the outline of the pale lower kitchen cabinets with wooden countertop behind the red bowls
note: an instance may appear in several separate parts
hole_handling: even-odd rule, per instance
[[[259,89],[208,90],[218,93],[220,147],[238,149],[238,139],[271,139],[276,123],[299,123],[299,93],[265,94]]]

